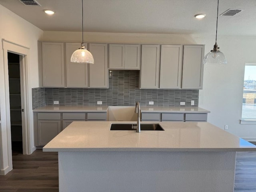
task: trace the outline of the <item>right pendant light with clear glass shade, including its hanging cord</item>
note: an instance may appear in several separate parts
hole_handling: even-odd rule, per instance
[[[219,47],[217,45],[218,12],[219,12],[219,0],[218,0],[218,8],[217,8],[215,45],[213,46],[213,50],[211,50],[204,57],[204,62],[203,62],[204,64],[227,64],[227,60],[226,60],[225,55],[222,52],[220,52]]]

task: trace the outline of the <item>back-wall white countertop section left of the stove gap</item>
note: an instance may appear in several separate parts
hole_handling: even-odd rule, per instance
[[[107,112],[108,106],[44,106],[33,112]]]

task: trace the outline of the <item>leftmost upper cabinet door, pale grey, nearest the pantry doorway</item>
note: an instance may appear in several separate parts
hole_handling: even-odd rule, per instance
[[[64,87],[64,43],[42,42],[44,87]]]

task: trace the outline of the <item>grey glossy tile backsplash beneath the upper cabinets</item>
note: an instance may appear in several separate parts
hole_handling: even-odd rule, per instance
[[[44,105],[97,105],[102,101],[104,106],[134,106],[140,102],[141,106],[198,106],[198,90],[167,90],[167,89],[139,89],[138,70],[112,70],[109,72],[109,88],[33,88],[33,109]],[[150,105],[152,106],[152,105]]]

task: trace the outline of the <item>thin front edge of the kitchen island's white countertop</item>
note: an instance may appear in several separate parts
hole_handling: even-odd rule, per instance
[[[255,148],[45,148],[43,152],[255,152]]]

